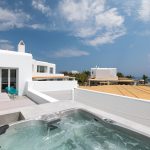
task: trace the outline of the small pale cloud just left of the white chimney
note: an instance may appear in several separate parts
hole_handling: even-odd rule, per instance
[[[4,50],[14,50],[15,47],[9,40],[0,39],[0,49]]]

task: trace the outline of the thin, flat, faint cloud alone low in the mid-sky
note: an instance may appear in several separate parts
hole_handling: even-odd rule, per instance
[[[54,57],[80,57],[87,56],[88,52],[76,49],[64,49],[54,53]]]

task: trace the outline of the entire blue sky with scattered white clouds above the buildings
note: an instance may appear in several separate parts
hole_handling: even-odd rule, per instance
[[[58,72],[98,65],[150,76],[150,0],[0,0],[0,48],[20,40]]]

